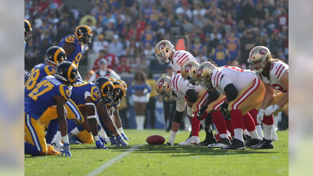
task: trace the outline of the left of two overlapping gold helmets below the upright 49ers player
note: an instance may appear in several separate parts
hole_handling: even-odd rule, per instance
[[[188,87],[194,88],[195,85],[199,85],[196,79],[196,73],[197,73],[196,70],[198,66],[199,66],[199,63],[194,60],[190,60],[186,62],[184,65],[182,65],[180,73],[182,77],[184,78],[184,81],[186,79],[188,80],[188,83],[187,83]]]

